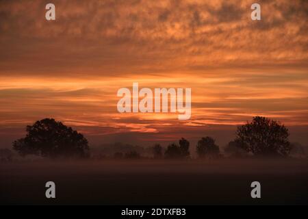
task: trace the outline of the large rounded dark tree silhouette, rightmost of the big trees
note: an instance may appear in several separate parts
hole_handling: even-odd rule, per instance
[[[256,116],[251,123],[238,127],[236,144],[254,155],[283,155],[290,153],[289,132],[284,125],[269,118]]]

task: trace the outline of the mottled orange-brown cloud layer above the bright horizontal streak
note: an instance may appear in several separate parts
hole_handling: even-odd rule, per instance
[[[306,1],[260,1],[261,21],[250,1],[54,1],[56,21],[45,3],[1,3],[3,74],[307,67]]]

